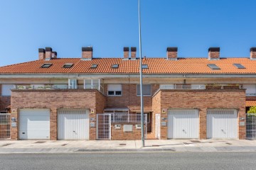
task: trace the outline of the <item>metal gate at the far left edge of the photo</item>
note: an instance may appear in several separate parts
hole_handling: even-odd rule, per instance
[[[11,139],[11,114],[0,113],[0,140]]]

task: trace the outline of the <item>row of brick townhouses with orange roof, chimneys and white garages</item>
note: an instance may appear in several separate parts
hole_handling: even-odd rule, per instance
[[[139,140],[136,51],[96,58],[82,47],[79,58],[58,58],[46,47],[35,61],[0,67],[0,111],[11,114],[0,131],[11,140]],[[220,57],[219,47],[205,58],[177,52],[143,58],[146,139],[245,139],[245,112],[256,106],[256,48],[241,58]]]

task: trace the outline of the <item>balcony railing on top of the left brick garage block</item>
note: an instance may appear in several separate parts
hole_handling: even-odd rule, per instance
[[[52,90],[52,89],[97,89],[104,93],[103,86],[14,86],[14,89],[19,90]]]

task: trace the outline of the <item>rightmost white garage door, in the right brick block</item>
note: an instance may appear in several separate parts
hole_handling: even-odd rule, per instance
[[[207,138],[237,139],[238,113],[235,110],[207,111]]]

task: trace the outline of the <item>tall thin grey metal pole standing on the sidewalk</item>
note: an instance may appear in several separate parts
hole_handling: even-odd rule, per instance
[[[140,0],[139,0],[139,81],[141,91],[141,118],[142,118],[142,147],[145,146],[144,141],[144,102],[143,102],[143,89],[142,89],[142,28],[141,28],[141,15],[140,15]]]

